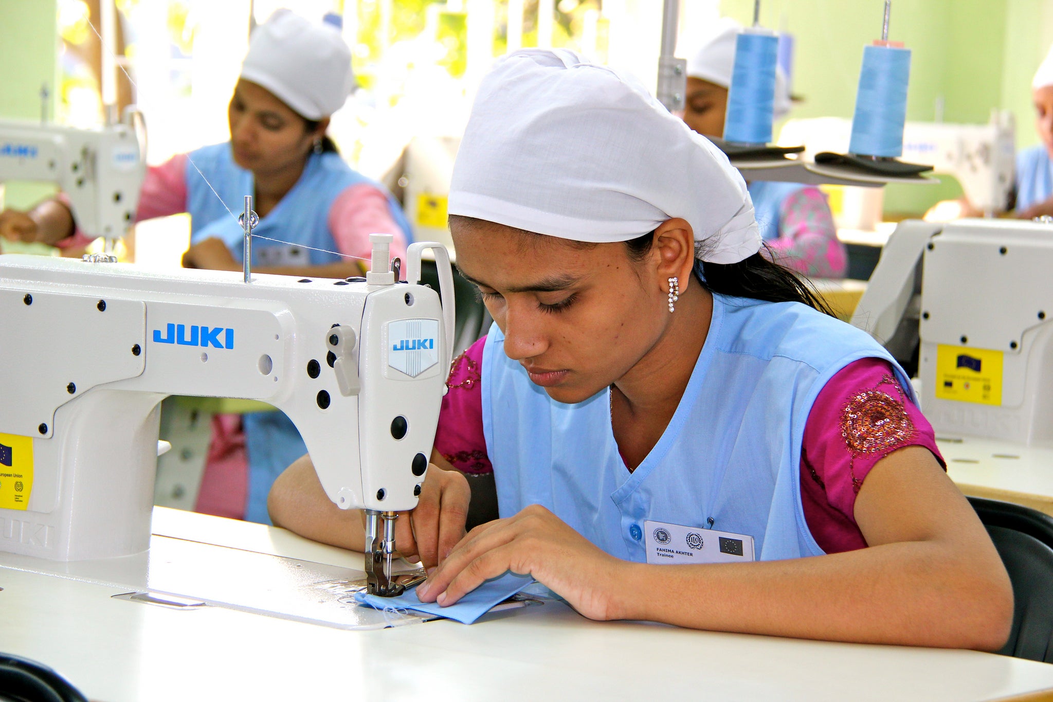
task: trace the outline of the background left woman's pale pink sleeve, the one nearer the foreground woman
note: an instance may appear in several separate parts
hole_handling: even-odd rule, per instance
[[[329,226],[338,252],[366,260],[373,250],[370,235],[392,235],[392,258],[402,259],[405,266],[405,234],[392,217],[391,201],[380,188],[360,183],[343,190],[330,207]]]

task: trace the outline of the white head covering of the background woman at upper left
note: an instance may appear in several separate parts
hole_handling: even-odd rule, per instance
[[[253,32],[241,77],[311,120],[342,107],[355,86],[351,49],[340,31],[287,9],[275,12]]]

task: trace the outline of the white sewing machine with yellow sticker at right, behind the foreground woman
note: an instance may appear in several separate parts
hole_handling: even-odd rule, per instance
[[[920,339],[937,434],[1053,444],[1053,225],[900,223],[853,323],[897,358]]]

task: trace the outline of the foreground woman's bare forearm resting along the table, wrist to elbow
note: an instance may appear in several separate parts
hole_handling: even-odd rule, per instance
[[[623,574],[619,619],[698,629],[996,650],[1013,614],[1008,583],[937,542],[741,564],[627,563]]]

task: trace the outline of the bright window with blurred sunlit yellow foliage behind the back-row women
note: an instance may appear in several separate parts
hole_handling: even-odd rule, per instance
[[[115,0],[59,0],[55,99],[63,123],[103,120],[97,31],[99,3],[106,1]],[[510,5],[521,9],[521,21],[510,18]],[[539,7],[553,13],[547,25],[552,46],[607,58],[601,0],[116,0],[116,7],[118,106],[136,102],[143,109],[151,163],[229,138],[226,101],[247,45],[250,14],[257,22],[278,7],[315,21],[340,16],[359,87],[334,116],[331,133],[344,158],[369,175],[378,175],[370,172],[417,134],[459,134],[474,83],[505,53],[510,31],[517,35],[513,45],[537,45]],[[470,36],[480,36],[470,32],[473,18],[492,22],[489,52],[470,49]]]

